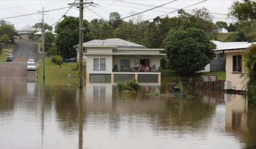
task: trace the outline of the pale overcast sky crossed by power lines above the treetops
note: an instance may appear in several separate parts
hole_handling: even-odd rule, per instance
[[[68,3],[73,3],[74,0],[44,0],[44,1],[29,1],[29,0],[0,0],[0,19],[5,17],[13,17],[25,14],[35,13],[38,10],[53,10],[57,8],[68,7]],[[159,6],[164,3],[168,3],[173,0],[164,0],[164,1],[147,1],[147,0],[93,0],[93,2],[97,5],[90,6],[90,10],[84,9],[84,19],[88,21],[101,17],[105,19],[109,19],[110,12],[118,12],[122,17],[129,16],[131,11],[134,12],[142,12],[144,10],[153,8],[154,6]],[[203,0],[201,0],[203,1]],[[168,12],[172,12],[173,8],[184,8],[186,6],[190,6],[196,3],[198,5],[190,6],[186,8],[186,10],[193,10],[194,8],[207,8],[212,13],[220,13],[220,14],[212,14],[214,16],[214,22],[216,21],[227,21],[232,22],[232,19],[227,19],[227,16],[223,14],[227,14],[229,12],[229,7],[232,5],[234,0],[208,0],[203,3],[199,3],[199,0],[177,0],[168,5],[164,5],[160,8],[156,8],[154,10],[150,10],[148,12],[143,13],[143,20],[151,19],[153,17],[161,16],[163,14],[167,14]],[[60,19],[61,16],[68,10],[68,8],[64,8],[61,10],[47,12],[45,16],[45,23],[49,25],[53,25],[55,22]],[[92,12],[92,11],[93,12]],[[189,12],[189,11],[188,11]],[[97,15],[96,15],[97,14]],[[177,16],[177,12],[173,12],[172,14],[168,14],[169,16]],[[79,10],[75,7],[71,8],[66,16],[79,16]],[[10,19],[4,19],[5,21],[12,22],[16,29],[19,30],[25,25],[34,25],[35,23],[41,22],[42,15],[34,14],[30,16],[22,16],[22,17],[14,17]],[[130,18],[131,19],[131,18]],[[126,21],[129,18],[125,19]]]

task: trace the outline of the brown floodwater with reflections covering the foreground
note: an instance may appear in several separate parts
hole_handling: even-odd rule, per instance
[[[0,84],[0,148],[256,148],[244,97],[172,84],[122,94],[111,84]]]

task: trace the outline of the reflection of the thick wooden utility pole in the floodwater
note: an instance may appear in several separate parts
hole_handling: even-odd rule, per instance
[[[78,89],[79,149],[83,148],[83,88]]]

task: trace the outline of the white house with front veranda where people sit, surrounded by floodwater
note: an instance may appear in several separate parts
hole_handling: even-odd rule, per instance
[[[83,47],[87,56],[86,83],[131,79],[139,83],[160,83],[160,57],[166,56],[161,53],[164,49],[148,49],[121,39],[92,40],[83,43]]]

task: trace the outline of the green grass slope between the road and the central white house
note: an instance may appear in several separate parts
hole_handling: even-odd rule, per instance
[[[86,72],[86,63],[83,63],[84,74]],[[69,78],[68,75],[71,75],[72,78]],[[38,78],[42,82],[43,76],[43,65],[42,59],[39,60],[38,68]],[[78,82],[78,69],[77,63],[62,63],[60,65],[57,63],[50,62],[50,58],[45,58],[45,84],[55,84],[55,85],[68,85],[72,82],[77,84]]]

